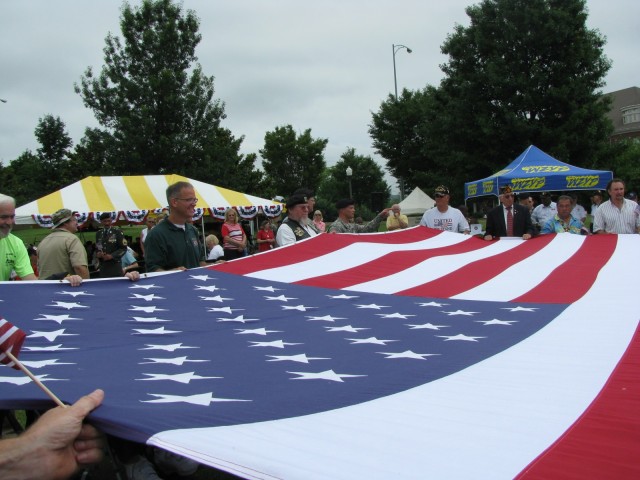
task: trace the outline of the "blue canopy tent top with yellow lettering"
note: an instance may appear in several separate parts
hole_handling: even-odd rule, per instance
[[[498,196],[505,185],[511,185],[515,192],[604,190],[612,178],[612,172],[574,167],[530,145],[503,170],[465,183],[464,199]]]

